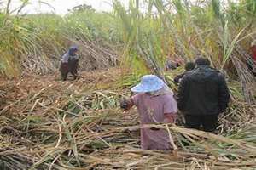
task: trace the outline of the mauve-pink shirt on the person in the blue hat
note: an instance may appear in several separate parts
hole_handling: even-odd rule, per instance
[[[177,103],[172,94],[136,94],[132,100],[140,114],[141,125],[163,122],[165,116],[177,113]],[[172,149],[169,134],[163,129],[141,129],[141,145],[144,150]]]

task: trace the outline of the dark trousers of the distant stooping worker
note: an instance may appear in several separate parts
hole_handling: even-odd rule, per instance
[[[66,81],[67,75],[70,72],[74,79],[78,77],[78,62],[69,61],[68,63],[61,63],[61,80]]]

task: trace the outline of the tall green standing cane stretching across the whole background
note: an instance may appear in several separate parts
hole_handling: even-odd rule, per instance
[[[9,6],[0,14],[0,69],[8,77],[16,77],[24,70],[38,74],[55,71],[57,60],[68,45],[78,43],[83,47],[90,42],[104,52],[108,48],[112,54],[123,51],[122,61],[128,59],[143,73],[149,69],[162,75],[166,58],[190,60],[198,55],[207,56],[214,66],[224,68],[234,48],[241,46],[248,51],[255,36],[253,0],[227,4],[219,0],[149,0],[143,4],[131,0],[129,8],[114,0],[113,13],[98,13],[84,5],[64,17],[19,15],[27,2],[17,15],[9,14]]]

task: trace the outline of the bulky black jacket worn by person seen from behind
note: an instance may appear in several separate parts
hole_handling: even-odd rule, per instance
[[[230,93],[223,75],[209,66],[197,67],[182,79],[177,106],[186,115],[215,115],[228,106]]]

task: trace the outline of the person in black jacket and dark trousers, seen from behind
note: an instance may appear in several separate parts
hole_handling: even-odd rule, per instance
[[[185,127],[214,132],[218,115],[230,101],[223,74],[213,69],[205,58],[195,60],[196,68],[188,72],[179,84],[177,106],[183,112]]]

